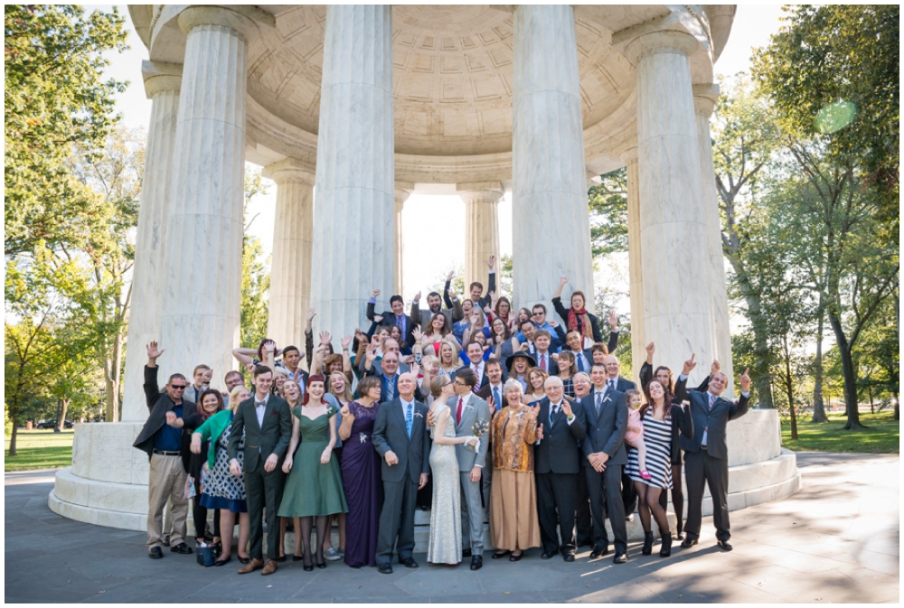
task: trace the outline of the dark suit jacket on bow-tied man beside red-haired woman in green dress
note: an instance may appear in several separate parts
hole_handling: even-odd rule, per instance
[[[270,395],[264,407],[264,423],[258,425],[258,415],[254,411],[254,396],[245,399],[235,410],[232,431],[229,435],[229,458],[237,457],[241,433],[245,432],[245,462],[243,472],[263,470],[264,461],[270,454],[277,454],[282,461],[292,438],[292,412],[286,399]],[[281,462],[277,465],[280,466]]]

